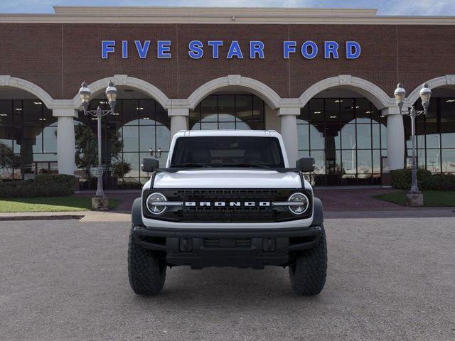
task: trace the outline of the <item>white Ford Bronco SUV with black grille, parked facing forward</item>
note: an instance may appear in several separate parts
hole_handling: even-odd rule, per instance
[[[321,200],[303,172],[289,168],[276,131],[179,131],[166,168],[151,174],[132,207],[129,282],[135,293],[161,291],[167,266],[289,266],[301,295],[320,293],[327,250]]]

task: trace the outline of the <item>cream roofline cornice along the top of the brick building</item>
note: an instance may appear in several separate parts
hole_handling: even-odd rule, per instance
[[[217,23],[454,25],[455,16],[377,16],[376,9],[55,6],[55,13],[0,13],[0,23]]]

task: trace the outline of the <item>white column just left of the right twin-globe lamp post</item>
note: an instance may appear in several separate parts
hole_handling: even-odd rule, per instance
[[[402,169],[405,167],[405,127],[403,117],[398,108],[382,109],[382,115],[387,116],[387,159],[389,168]]]

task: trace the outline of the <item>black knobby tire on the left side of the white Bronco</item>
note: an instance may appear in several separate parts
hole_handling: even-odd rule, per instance
[[[138,295],[158,294],[166,279],[166,264],[151,250],[134,242],[134,226],[129,232],[128,244],[129,285]]]

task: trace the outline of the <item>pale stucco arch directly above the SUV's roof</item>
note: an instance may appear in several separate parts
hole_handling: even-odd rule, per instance
[[[241,75],[228,75],[215,78],[215,80],[210,80],[194,90],[187,99],[189,107],[194,109],[198,103],[209,94],[213,94],[213,92],[225,87],[237,87],[242,90],[247,90],[264,100],[272,109],[277,109],[279,107],[279,102],[281,101],[281,97],[279,97],[277,92],[264,83],[259,82],[259,80],[242,77]]]

